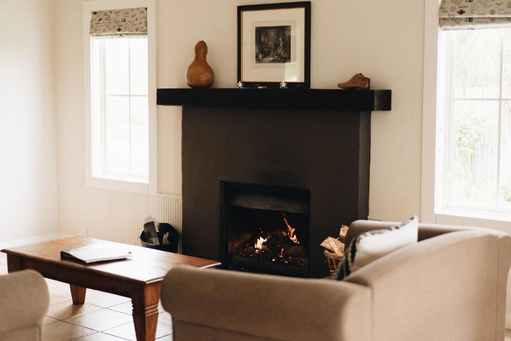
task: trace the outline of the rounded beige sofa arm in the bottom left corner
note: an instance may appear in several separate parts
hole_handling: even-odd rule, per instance
[[[49,301],[48,286],[38,272],[0,276],[0,340],[39,341]]]

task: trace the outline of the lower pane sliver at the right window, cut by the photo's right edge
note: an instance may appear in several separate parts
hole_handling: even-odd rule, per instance
[[[511,212],[511,102],[502,103],[500,128],[500,206]]]

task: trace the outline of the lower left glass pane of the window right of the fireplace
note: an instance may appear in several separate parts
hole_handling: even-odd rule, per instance
[[[448,206],[496,203],[498,101],[456,101],[451,112]]]

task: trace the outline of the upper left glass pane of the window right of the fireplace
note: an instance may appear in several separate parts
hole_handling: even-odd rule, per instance
[[[460,30],[455,35],[456,98],[498,98],[499,29]]]

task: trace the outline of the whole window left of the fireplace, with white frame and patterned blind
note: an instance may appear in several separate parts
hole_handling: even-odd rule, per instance
[[[83,2],[87,187],[157,193],[155,18],[155,0]]]

